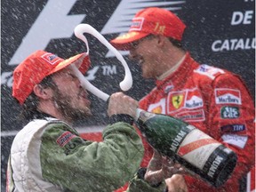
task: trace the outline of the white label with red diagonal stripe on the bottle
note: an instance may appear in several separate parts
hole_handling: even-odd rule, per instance
[[[219,141],[212,139],[198,129],[194,129],[182,140],[177,154],[202,170],[209,156],[220,145]]]

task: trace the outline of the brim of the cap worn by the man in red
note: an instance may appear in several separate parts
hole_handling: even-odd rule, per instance
[[[140,38],[145,36],[148,36],[148,33],[130,31],[121,36],[117,36],[115,39],[112,39],[110,44],[112,44],[117,50],[128,51],[131,49],[132,42],[138,41]]]

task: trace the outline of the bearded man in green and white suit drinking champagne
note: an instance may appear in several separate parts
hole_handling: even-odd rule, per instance
[[[88,93],[68,67],[86,71],[84,53],[63,60],[36,51],[15,68],[12,96],[30,121],[15,137],[7,191],[113,191],[140,167],[144,148],[132,127],[138,102],[122,92],[109,98],[103,141],[82,139],[76,117],[91,116]]]

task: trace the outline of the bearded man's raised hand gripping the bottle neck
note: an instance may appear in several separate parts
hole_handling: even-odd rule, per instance
[[[136,116],[136,108],[139,102],[133,100],[131,97],[125,95],[123,92],[116,92],[109,98],[108,103],[108,116],[116,114],[127,114],[129,116]]]

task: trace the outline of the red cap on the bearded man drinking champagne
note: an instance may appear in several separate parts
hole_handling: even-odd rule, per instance
[[[85,53],[63,60],[51,52],[42,50],[33,52],[14,69],[12,96],[22,105],[33,91],[34,86],[39,84],[45,76],[66,68],[72,63],[75,63],[79,70],[85,73],[90,67],[91,61]]]

